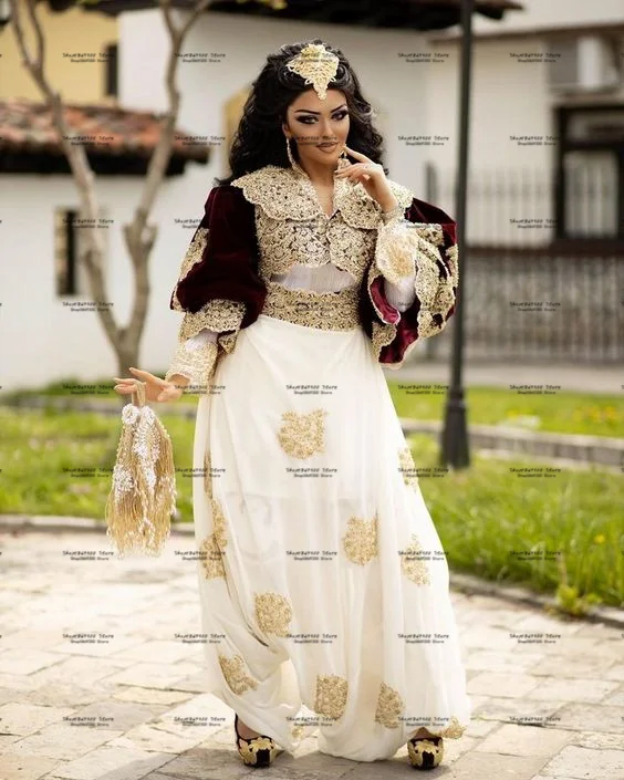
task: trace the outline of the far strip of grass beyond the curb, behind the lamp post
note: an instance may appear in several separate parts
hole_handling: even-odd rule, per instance
[[[388,382],[399,417],[443,419],[446,388],[438,395],[426,385]],[[418,388],[425,393],[416,393]],[[440,386],[438,386],[440,387]],[[505,387],[466,391],[468,424],[516,425],[524,429],[624,438],[624,395],[557,392],[521,395]]]

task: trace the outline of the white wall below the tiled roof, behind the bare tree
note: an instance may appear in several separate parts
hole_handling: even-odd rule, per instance
[[[63,302],[90,301],[89,293],[58,297],[54,277],[54,208],[76,208],[75,188],[69,176],[3,176],[0,190],[3,259],[0,263],[2,306],[2,386],[4,389],[77,376],[83,381],[116,375],[113,351],[96,313],[73,311]],[[167,189],[167,187],[166,187]],[[138,181],[129,177],[101,179],[98,199],[113,219],[106,230],[107,300],[114,315],[127,322],[132,305],[132,269],[122,237],[122,225],[131,215]],[[162,198],[156,223],[165,226],[159,246],[178,246],[175,262],[163,268],[166,251],[152,266],[152,306],[142,362],[166,365],[173,349],[176,312],[168,298],[177,278],[179,251],[187,236],[169,225],[167,200]]]

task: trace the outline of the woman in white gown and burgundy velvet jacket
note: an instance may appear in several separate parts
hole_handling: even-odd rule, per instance
[[[386,178],[371,116],[340,51],[268,58],[171,295],[171,367],[131,368],[148,399],[201,396],[206,658],[254,767],[312,724],[322,752],[407,742],[429,769],[470,715],[447,563],[381,365],[454,313],[456,226]]]

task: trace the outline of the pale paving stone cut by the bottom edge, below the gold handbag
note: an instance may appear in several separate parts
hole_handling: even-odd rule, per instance
[[[170,756],[103,745],[52,772],[62,780],[142,780],[162,767]]]

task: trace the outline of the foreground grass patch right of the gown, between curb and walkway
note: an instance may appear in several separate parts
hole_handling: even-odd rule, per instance
[[[410,437],[419,469],[437,465],[438,446]],[[554,593],[568,584],[605,604],[624,603],[622,476],[561,469],[523,478],[534,461],[471,455],[470,468],[423,476],[423,496],[456,571]],[[533,551],[532,558],[511,554]]]

